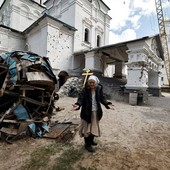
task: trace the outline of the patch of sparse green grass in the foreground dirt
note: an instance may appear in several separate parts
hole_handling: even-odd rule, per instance
[[[50,157],[58,154],[54,164],[50,165]],[[73,170],[73,165],[83,156],[82,149],[75,149],[70,144],[55,143],[36,149],[21,170]],[[90,169],[89,169],[90,170]]]

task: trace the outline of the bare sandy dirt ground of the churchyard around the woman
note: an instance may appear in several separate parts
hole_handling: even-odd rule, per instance
[[[57,104],[65,110],[57,112],[52,120],[79,119],[79,111],[71,111],[75,101],[60,98]],[[84,150],[81,165],[97,170],[170,170],[170,94],[149,97],[148,106],[112,102],[114,111],[103,107],[98,146],[94,153]],[[52,142],[43,138],[24,138],[12,145],[0,141],[0,170],[20,169],[35,148]],[[78,133],[71,143],[76,148],[84,145]]]

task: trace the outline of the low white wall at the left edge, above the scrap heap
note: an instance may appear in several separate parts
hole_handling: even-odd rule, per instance
[[[25,38],[19,33],[12,32],[0,27],[0,50],[23,50],[25,48]]]

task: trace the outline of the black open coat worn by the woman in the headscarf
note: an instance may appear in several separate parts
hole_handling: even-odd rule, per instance
[[[100,103],[102,103],[107,109],[110,109],[108,105],[112,103],[106,100],[106,97],[103,94],[103,87],[101,85],[97,85],[95,90],[95,96],[97,102],[97,118],[98,120],[100,120],[103,116],[103,111]],[[82,90],[75,104],[79,105],[78,109],[82,107],[80,117],[84,119],[86,122],[91,123],[92,96],[90,87],[86,86]]]

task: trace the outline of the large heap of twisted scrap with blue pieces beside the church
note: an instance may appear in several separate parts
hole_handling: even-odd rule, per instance
[[[0,138],[41,137],[58,100],[47,57],[25,51],[0,54]]]

